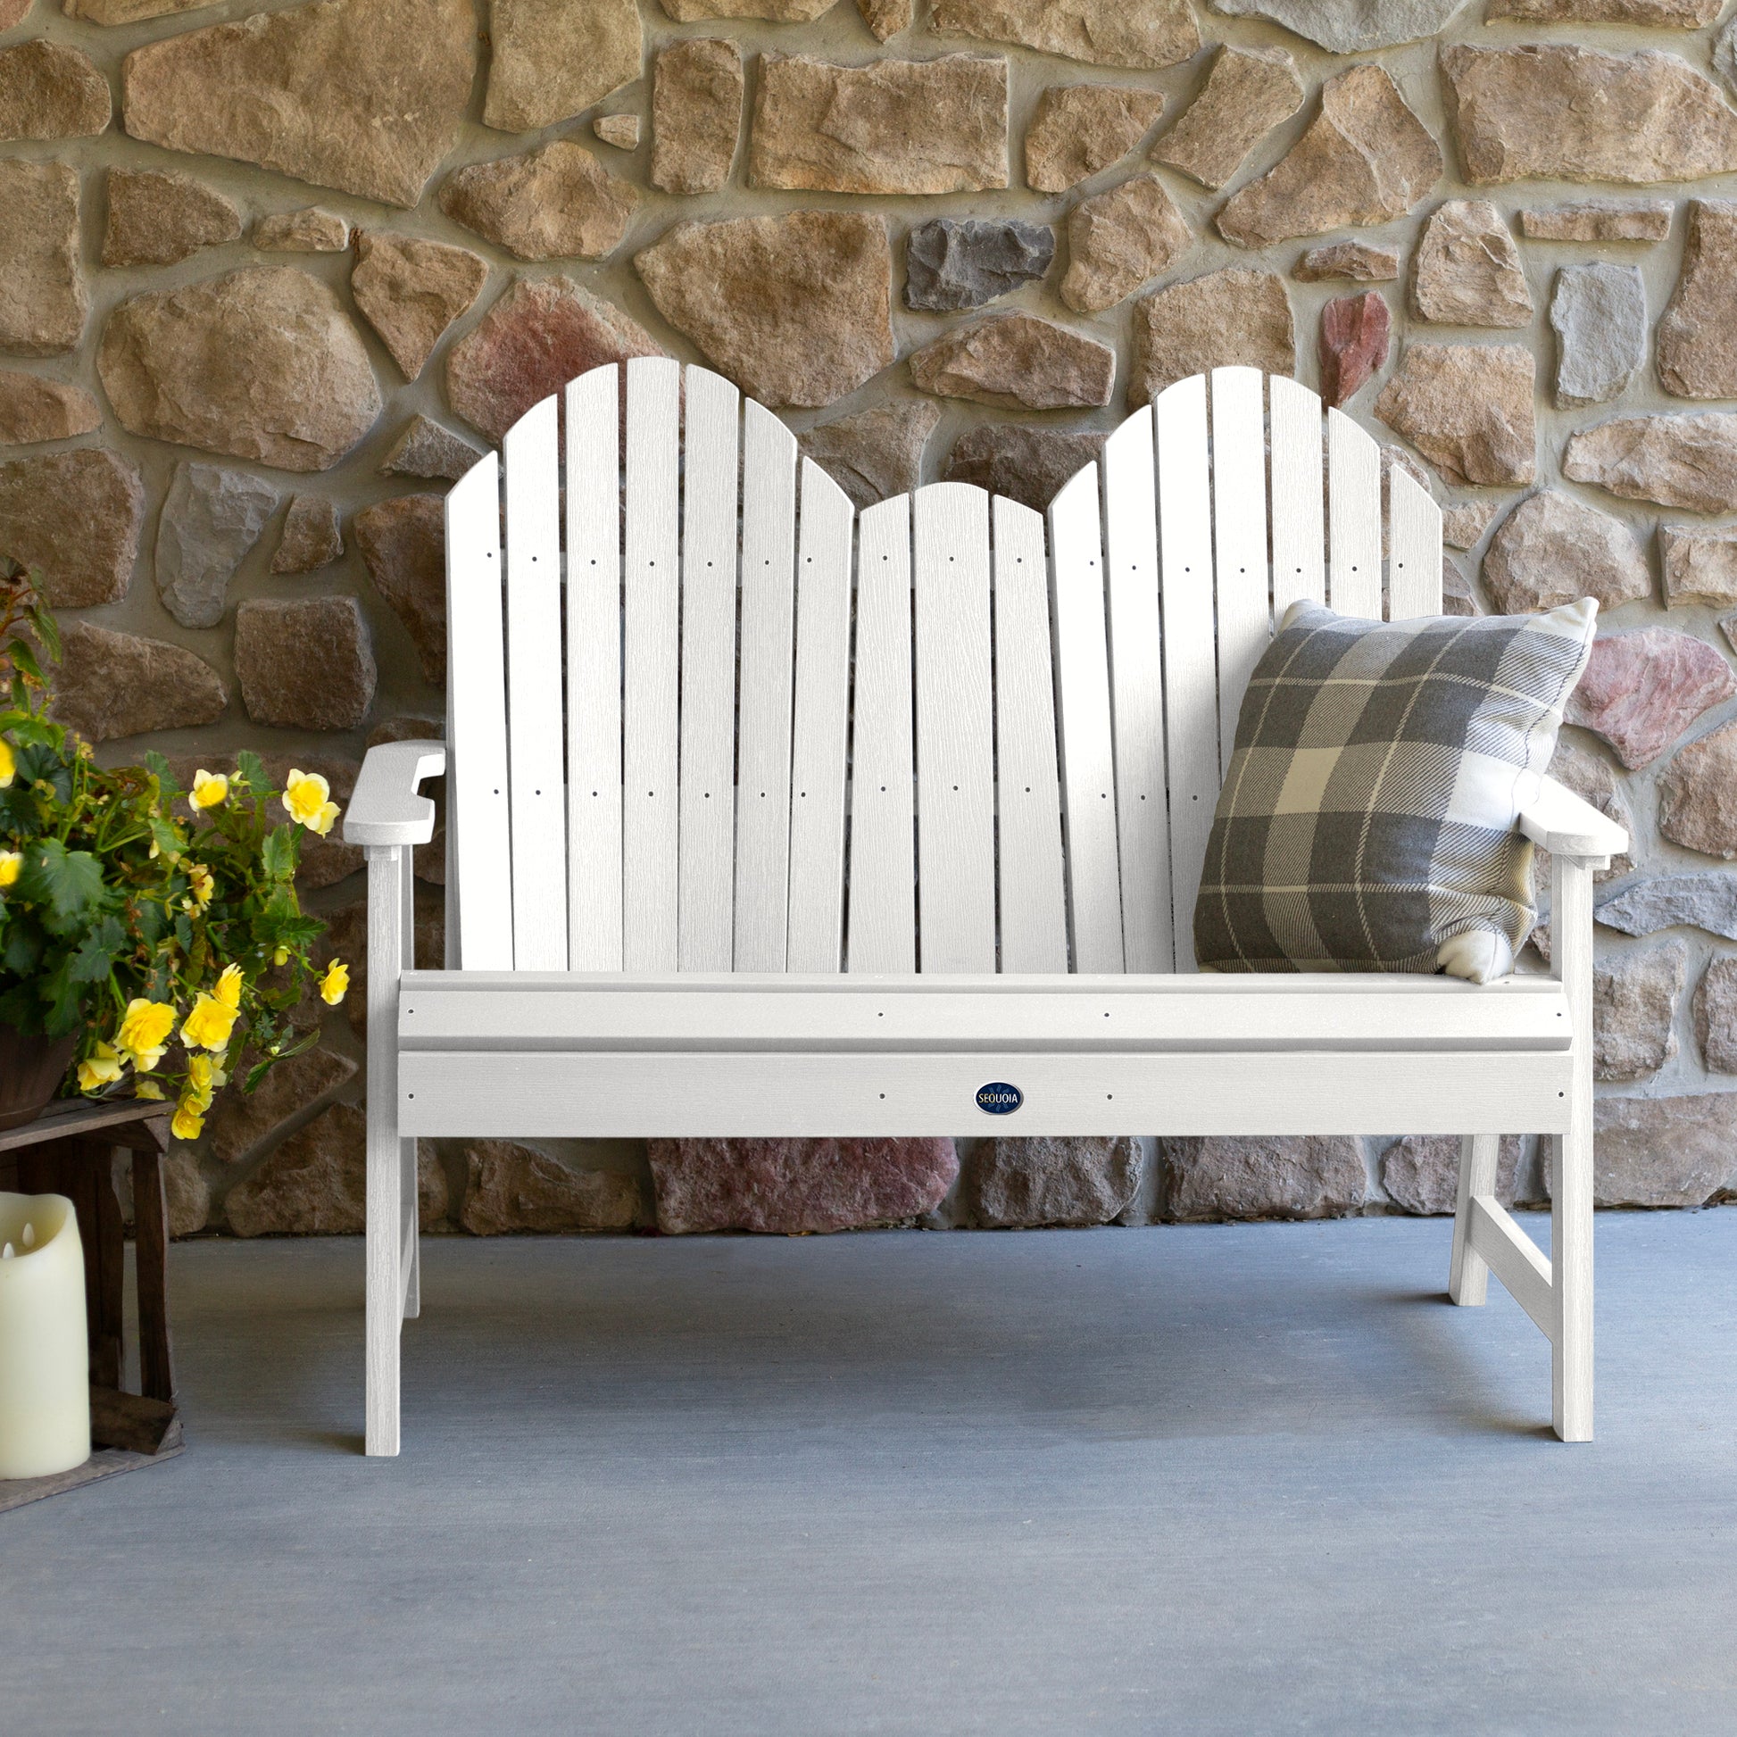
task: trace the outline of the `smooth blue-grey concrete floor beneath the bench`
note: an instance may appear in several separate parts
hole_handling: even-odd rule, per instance
[[[1542,1225],[1534,1221],[1539,1232]],[[1737,1730],[1737,1211],[1598,1430],[1445,1221],[174,1251],[189,1452],[0,1516],[0,1730]]]

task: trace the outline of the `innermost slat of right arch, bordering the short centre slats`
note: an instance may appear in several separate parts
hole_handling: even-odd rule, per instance
[[[1068,929],[1075,971],[1122,969],[1122,888],[1110,747],[1110,653],[1103,613],[1098,466],[1049,502],[1056,702],[1067,816]]]

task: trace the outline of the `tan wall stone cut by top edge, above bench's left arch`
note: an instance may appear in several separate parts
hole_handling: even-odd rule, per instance
[[[639,76],[637,0],[490,0],[483,125],[533,132]]]

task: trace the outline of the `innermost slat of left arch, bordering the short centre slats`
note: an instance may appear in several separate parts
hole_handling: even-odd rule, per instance
[[[790,747],[792,971],[844,962],[844,752],[851,716],[849,497],[802,460],[796,551],[796,728]]]

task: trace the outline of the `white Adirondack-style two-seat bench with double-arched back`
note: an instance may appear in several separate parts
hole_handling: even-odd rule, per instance
[[[624,450],[625,448],[625,450]],[[367,1450],[398,1452],[415,1138],[1463,1138],[1450,1294],[1490,1270],[1591,1435],[1591,875],[1542,783],[1551,976],[1195,974],[1249,672],[1296,598],[1440,610],[1440,512],[1289,379],[1129,417],[1044,518],[936,483],[862,514],[667,360],[573,380],[446,499],[448,740],[370,750]],[[504,472],[504,476],[502,476]],[[505,532],[502,547],[502,530]],[[412,959],[446,775],[446,969]],[[1555,1141],[1553,1259],[1496,1200]]]

